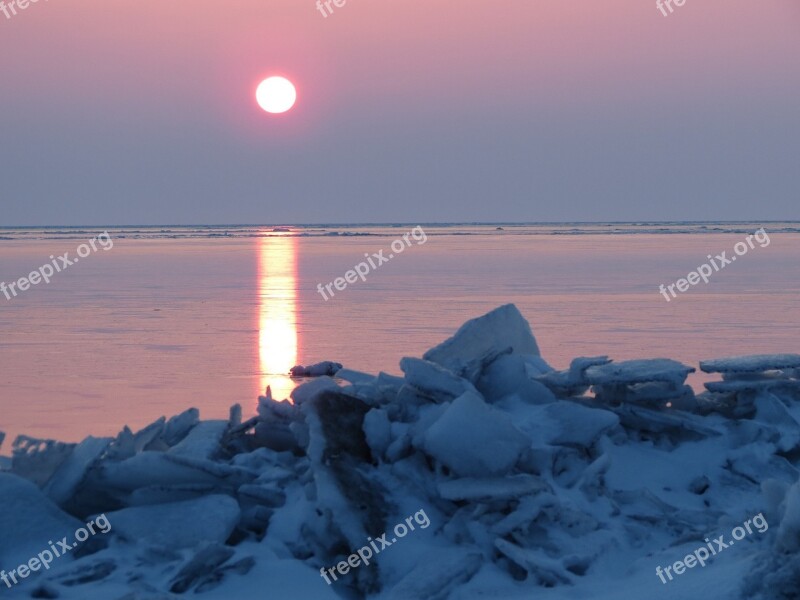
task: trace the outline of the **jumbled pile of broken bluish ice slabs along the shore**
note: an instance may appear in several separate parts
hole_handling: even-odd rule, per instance
[[[341,369],[292,402],[268,391],[245,422],[238,407],[227,421],[190,409],[77,445],[18,438],[0,473],[0,567],[100,513],[112,532],[0,593],[605,598],[608,581],[627,598],[646,573],[630,597],[655,597],[658,564],[763,513],[769,531],[703,576],[729,560],[748,598],[797,597],[800,356],[703,362],[722,380],[697,396],[694,369],[667,359],[556,372],[506,305],[400,366]],[[320,577],[420,509],[429,528],[333,586]]]

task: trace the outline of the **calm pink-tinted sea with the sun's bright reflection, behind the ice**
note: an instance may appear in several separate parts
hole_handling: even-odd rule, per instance
[[[401,357],[507,302],[556,368],[800,352],[798,223],[422,224],[424,243],[419,230],[403,242],[414,226],[109,228],[113,248],[0,294],[3,453],[20,433],[77,441],[189,406],[253,412],[267,385],[288,394],[295,364],[399,373]],[[761,227],[769,245],[670,302],[659,294]],[[0,282],[74,259],[102,231],[0,229]],[[318,293],[381,250],[393,257],[366,281]]]

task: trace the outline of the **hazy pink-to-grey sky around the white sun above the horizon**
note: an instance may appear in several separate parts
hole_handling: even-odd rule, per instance
[[[315,1],[0,12],[0,226],[800,219],[796,0]]]

